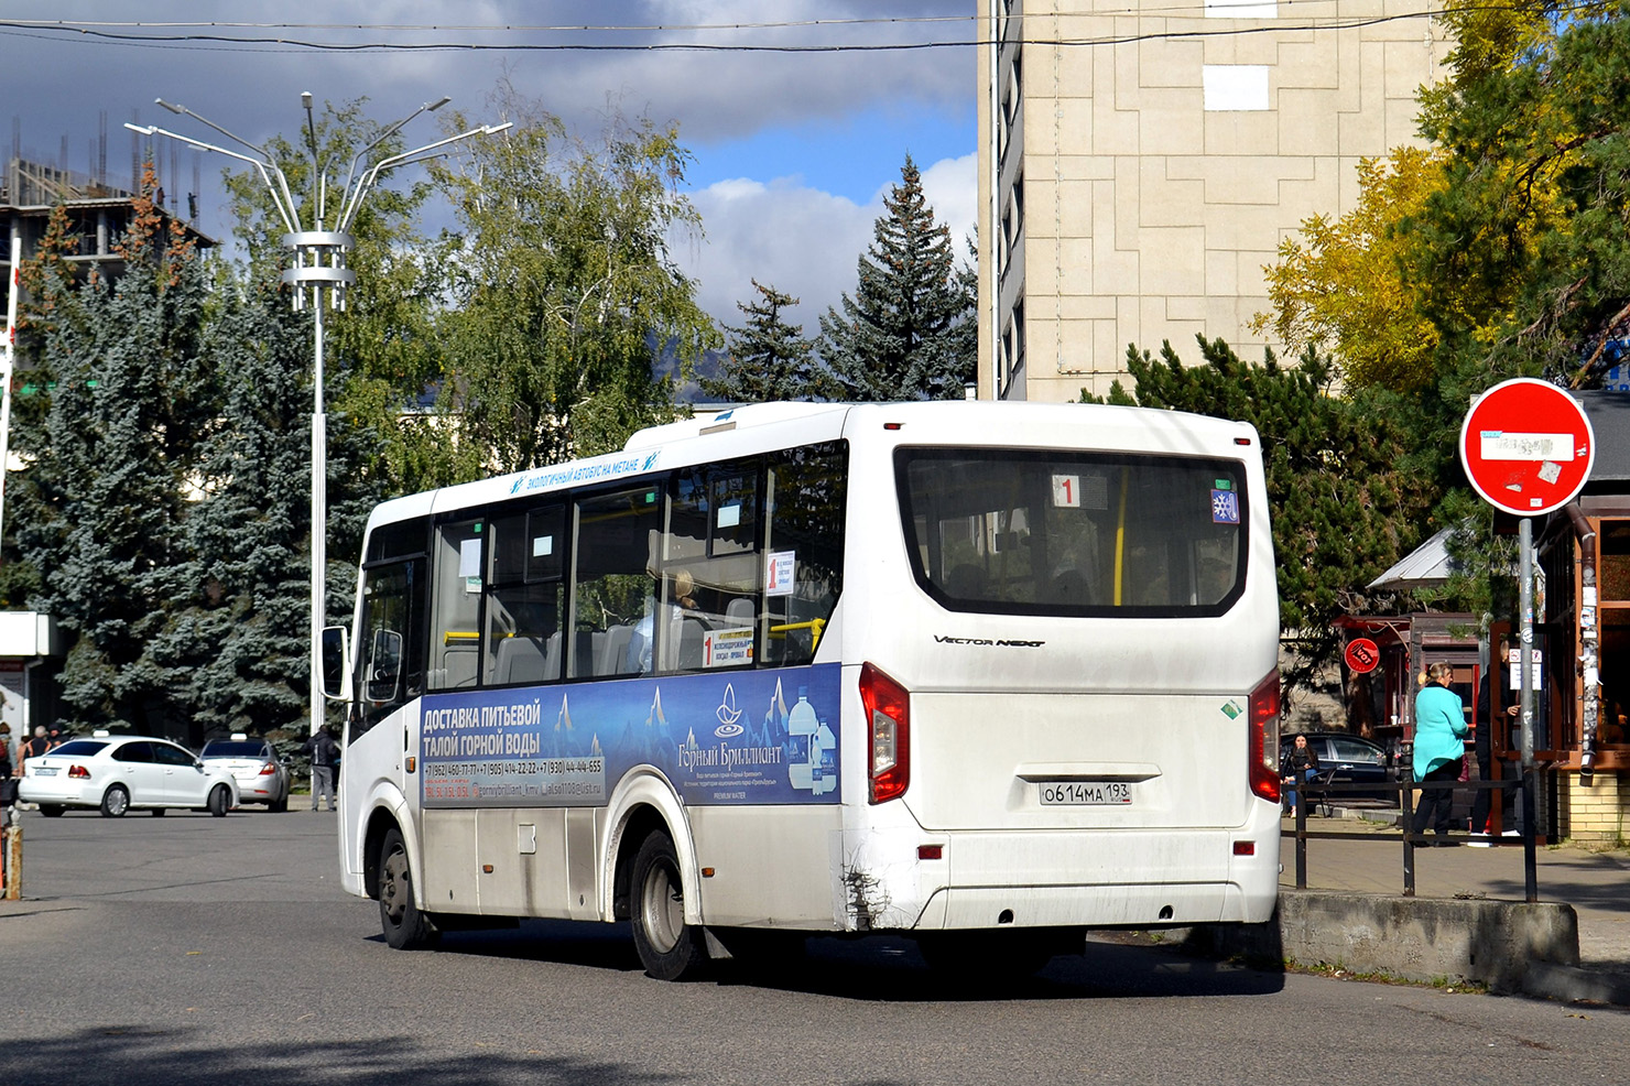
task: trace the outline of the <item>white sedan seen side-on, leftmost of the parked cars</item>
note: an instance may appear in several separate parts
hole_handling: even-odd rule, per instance
[[[238,806],[238,781],[225,765],[204,763],[168,739],[93,735],[24,762],[16,796],[47,819],[68,807],[101,809],[108,819],[132,807],[155,815],[191,807],[218,819]]]

